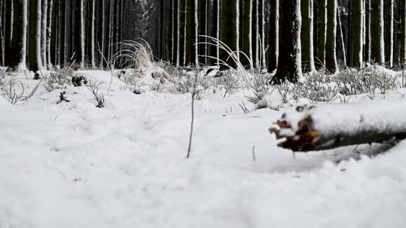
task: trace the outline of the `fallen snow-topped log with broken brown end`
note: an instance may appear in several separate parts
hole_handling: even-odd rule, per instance
[[[297,106],[270,127],[278,146],[298,152],[406,138],[406,102]]]

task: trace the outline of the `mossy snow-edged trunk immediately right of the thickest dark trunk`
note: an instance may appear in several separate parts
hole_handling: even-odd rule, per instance
[[[301,62],[304,73],[314,71],[313,0],[301,1]]]

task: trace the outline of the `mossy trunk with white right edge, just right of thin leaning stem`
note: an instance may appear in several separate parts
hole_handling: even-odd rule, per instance
[[[352,38],[352,64],[353,67],[363,67],[363,1],[354,1],[353,8],[353,38]]]

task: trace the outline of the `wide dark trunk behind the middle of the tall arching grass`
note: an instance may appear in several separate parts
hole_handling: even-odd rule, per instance
[[[237,1],[235,0],[222,0],[221,7],[221,34],[220,40],[224,42],[232,51],[237,50]],[[237,65],[231,58],[228,58],[228,53],[220,51],[220,58],[231,67]],[[228,59],[228,60],[227,60]],[[227,67],[222,65],[220,69],[226,69]]]

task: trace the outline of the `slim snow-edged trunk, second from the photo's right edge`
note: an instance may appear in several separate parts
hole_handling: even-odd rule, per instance
[[[394,60],[394,1],[385,0],[385,63],[392,67]]]

